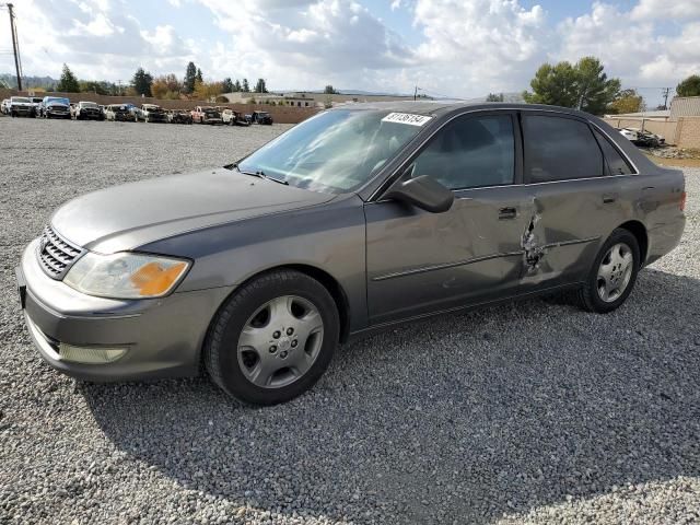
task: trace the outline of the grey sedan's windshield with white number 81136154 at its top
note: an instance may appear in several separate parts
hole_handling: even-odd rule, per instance
[[[343,192],[362,186],[420,131],[389,112],[336,109],[279,136],[238,164],[291,186]]]

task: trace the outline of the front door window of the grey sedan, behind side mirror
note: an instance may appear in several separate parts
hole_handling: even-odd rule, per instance
[[[510,115],[458,117],[416,159],[413,177],[430,175],[450,189],[513,184],[515,140]]]

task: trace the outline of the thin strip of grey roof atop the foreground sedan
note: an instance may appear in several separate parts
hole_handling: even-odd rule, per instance
[[[441,116],[447,113],[457,112],[459,109],[528,109],[528,110],[542,110],[565,113],[569,115],[575,115],[583,118],[588,118],[591,115],[572,109],[570,107],[561,106],[547,106],[544,104],[523,104],[523,103],[510,103],[510,102],[464,102],[464,101],[393,101],[393,102],[362,102],[362,103],[348,103],[335,106],[330,110],[384,110],[396,113],[411,113],[416,115],[433,115]]]

